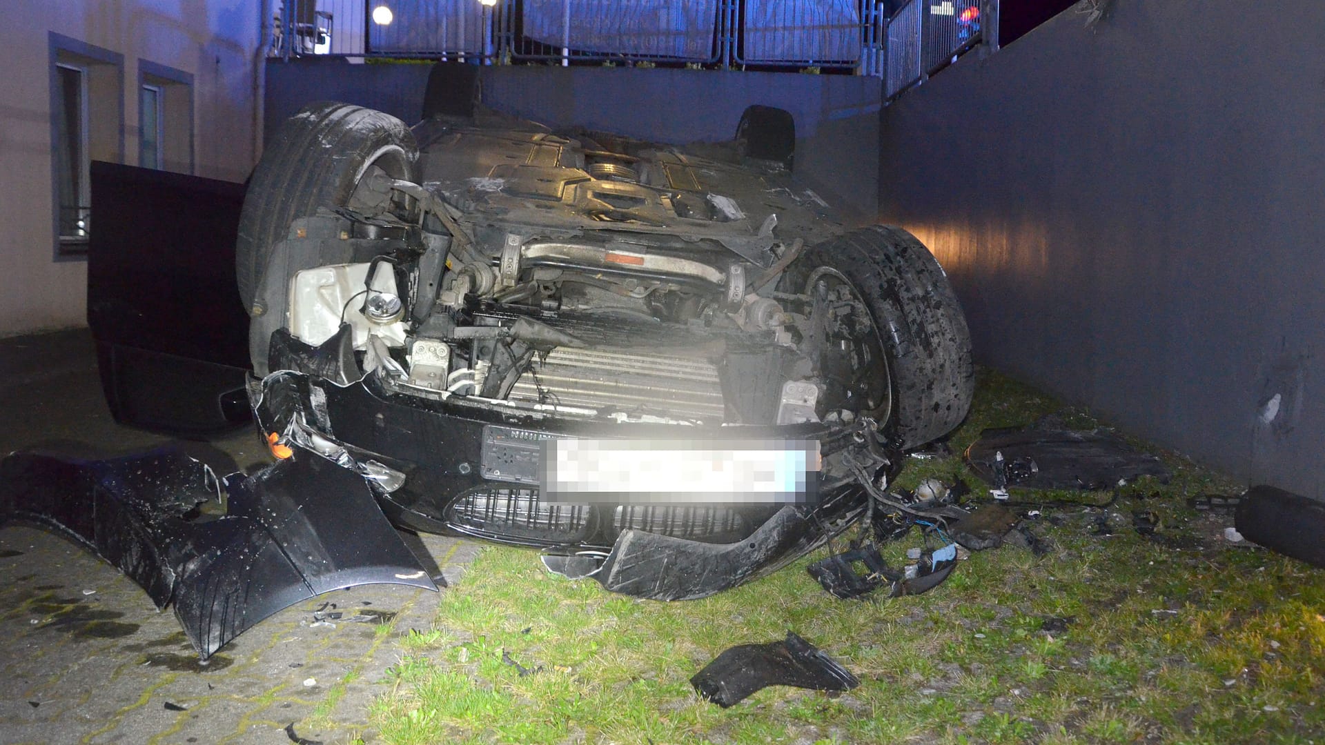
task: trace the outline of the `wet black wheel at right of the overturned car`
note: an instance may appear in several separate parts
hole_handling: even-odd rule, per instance
[[[966,418],[975,387],[966,317],[947,274],[916,236],[888,225],[837,236],[806,249],[779,286],[841,308],[848,318],[853,301],[868,310],[868,318],[822,331],[820,376],[836,380],[836,395],[886,426],[904,449]],[[839,354],[841,347],[851,347],[849,355]]]

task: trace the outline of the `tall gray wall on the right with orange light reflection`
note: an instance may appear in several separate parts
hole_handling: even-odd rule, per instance
[[[947,266],[983,362],[1321,496],[1325,3],[1112,7],[888,106],[880,216]]]

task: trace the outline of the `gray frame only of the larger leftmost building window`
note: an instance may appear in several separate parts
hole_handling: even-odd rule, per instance
[[[125,162],[125,56],[118,52],[111,52],[110,49],[103,49],[87,44],[86,41],[80,41],[56,32],[46,32],[46,49],[48,49],[48,64],[49,70],[48,89],[50,91],[49,98],[49,119],[50,119],[50,237],[52,237],[52,258],[54,261],[86,261],[87,260],[87,240],[61,240],[60,236],[60,162],[56,158],[56,148],[60,147],[60,121],[58,111],[62,109],[61,94],[62,85],[60,80],[60,69],[78,69],[82,72],[82,131],[81,131],[81,147],[82,163],[80,164],[85,168],[85,172],[90,171],[91,164],[91,73],[89,68],[91,65],[109,65],[114,69],[115,80],[115,99],[114,106],[118,114],[118,122],[115,122],[115,139],[111,144],[111,151],[115,160],[119,163]],[[61,56],[73,56],[81,60],[69,61],[68,58],[61,60]],[[86,60],[86,62],[83,62]],[[90,179],[83,182],[86,186],[82,188],[87,190],[90,195],[91,183]],[[82,188],[80,191],[82,191]],[[80,195],[81,199],[82,195]],[[95,220],[89,229],[95,229]],[[90,239],[89,239],[90,240]]]

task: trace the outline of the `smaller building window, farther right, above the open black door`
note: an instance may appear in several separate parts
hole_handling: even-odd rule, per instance
[[[138,61],[138,164],[193,172],[193,76]]]

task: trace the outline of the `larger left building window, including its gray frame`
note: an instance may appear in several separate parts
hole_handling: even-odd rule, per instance
[[[49,34],[50,201],[56,260],[82,258],[91,237],[93,160],[122,163],[123,56]]]

